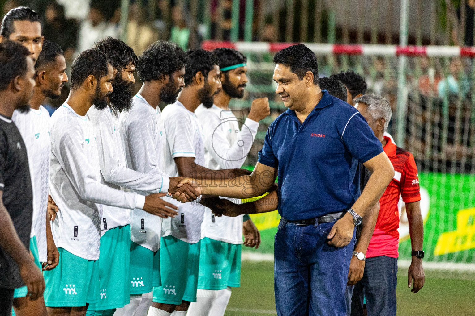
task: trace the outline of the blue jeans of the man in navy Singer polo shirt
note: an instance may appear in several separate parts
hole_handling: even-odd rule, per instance
[[[345,316],[350,244],[327,244],[334,223],[297,226],[281,219],[274,242],[278,316]]]

